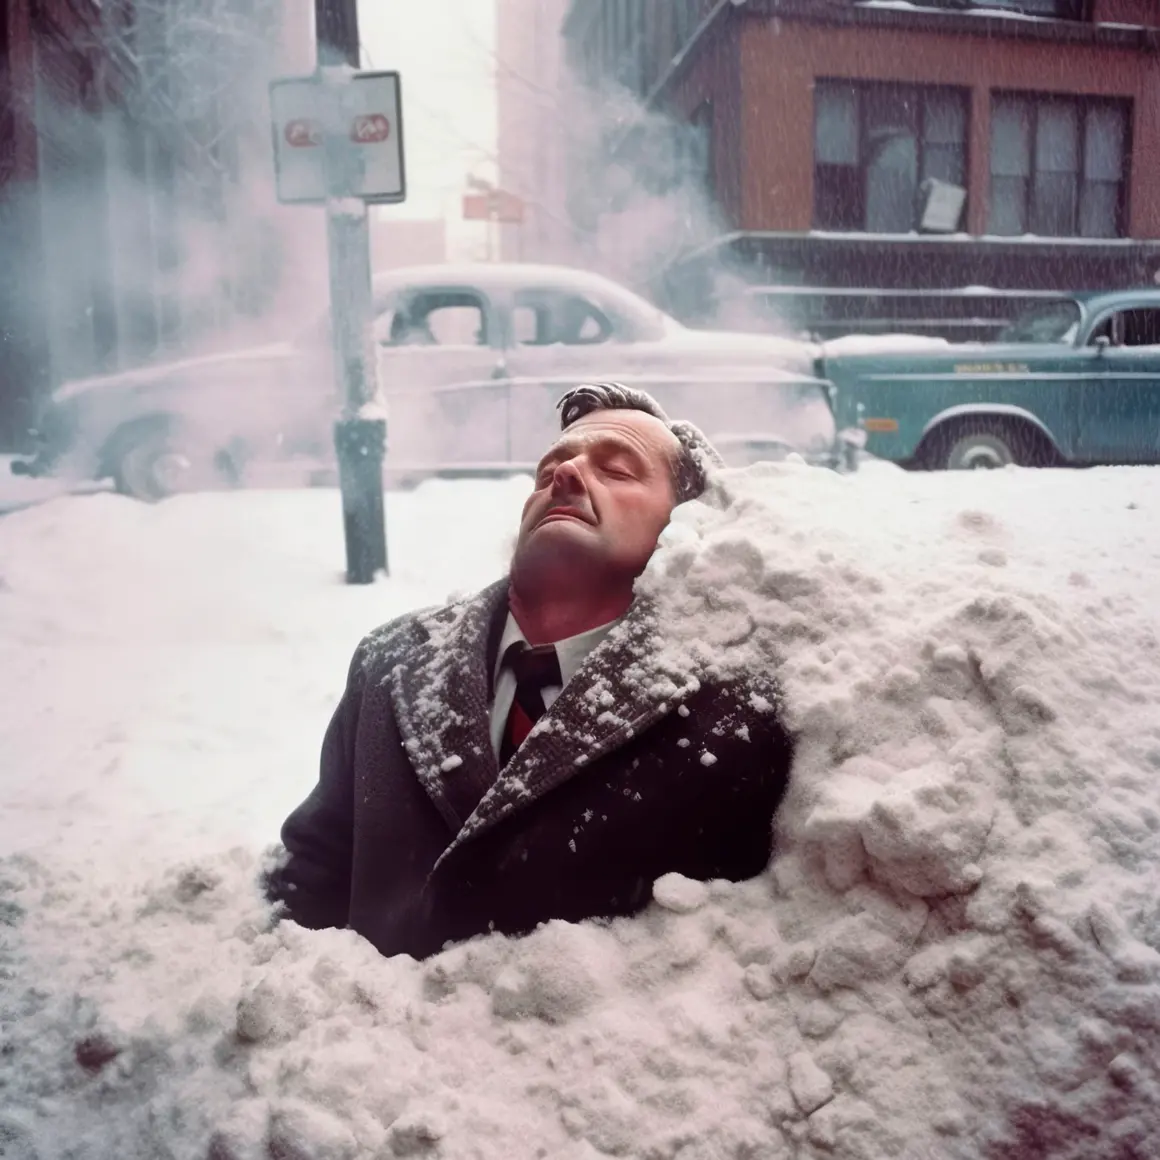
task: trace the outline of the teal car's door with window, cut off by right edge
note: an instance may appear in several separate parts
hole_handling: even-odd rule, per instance
[[[1088,345],[1078,457],[1160,462],[1160,307],[1112,311],[1094,325]]]

